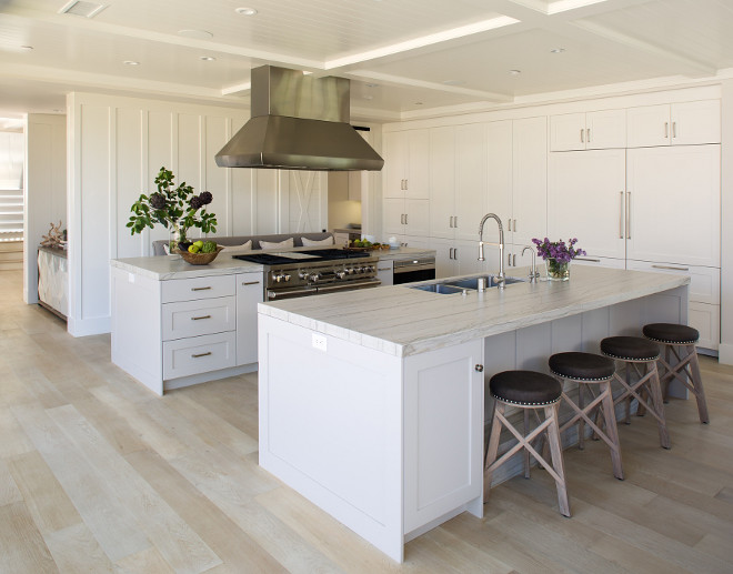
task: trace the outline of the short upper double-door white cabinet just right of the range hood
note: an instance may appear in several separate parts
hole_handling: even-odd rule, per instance
[[[384,134],[384,197],[428,199],[429,130]]]

